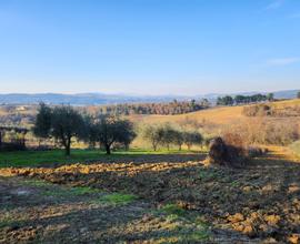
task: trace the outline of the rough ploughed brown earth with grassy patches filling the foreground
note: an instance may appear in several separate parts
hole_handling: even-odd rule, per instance
[[[299,243],[300,163],[170,160],[0,170],[0,243]]]

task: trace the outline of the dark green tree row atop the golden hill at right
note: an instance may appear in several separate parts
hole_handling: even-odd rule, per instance
[[[219,96],[217,99],[217,105],[239,105],[239,104],[249,104],[256,102],[266,102],[266,101],[273,101],[274,96],[273,93],[269,93],[267,95],[263,94],[253,94],[253,95],[226,95]]]

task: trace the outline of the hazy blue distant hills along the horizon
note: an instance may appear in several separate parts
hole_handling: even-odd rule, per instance
[[[276,99],[293,99],[299,90],[287,90],[273,92]],[[236,94],[254,94],[267,92],[241,92]],[[44,102],[48,104],[72,104],[72,105],[100,105],[100,104],[120,104],[120,103],[147,103],[147,102],[170,102],[174,99],[179,101],[187,101],[191,99],[208,99],[214,102],[218,96],[226,95],[219,93],[204,95],[127,95],[127,94],[103,94],[103,93],[79,93],[79,94],[59,94],[59,93],[11,93],[0,94],[0,104],[37,104]]]

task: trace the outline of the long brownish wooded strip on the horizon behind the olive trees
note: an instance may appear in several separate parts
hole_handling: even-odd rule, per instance
[[[137,103],[106,105],[99,109],[100,114],[130,115],[130,114],[183,114],[203,110],[210,106],[207,99],[201,101],[172,101],[169,103]]]

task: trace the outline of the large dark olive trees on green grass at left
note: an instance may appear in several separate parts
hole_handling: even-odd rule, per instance
[[[114,143],[129,146],[136,138],[133,124],[110,115],[83,116],[70,105],[50,108],[40,104],[33,133],[38,138],[54,139],[70,155],[74,139],[103,146],[111,153]]]

